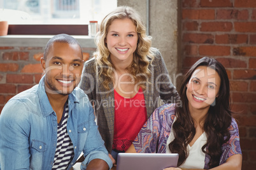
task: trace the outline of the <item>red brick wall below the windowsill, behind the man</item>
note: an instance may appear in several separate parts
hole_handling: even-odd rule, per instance
[[[12,97],[38,84],[43,70],[40,58],[44,47],[0,46],[0,112]],[[95,48],[83,48],[88,60]]]

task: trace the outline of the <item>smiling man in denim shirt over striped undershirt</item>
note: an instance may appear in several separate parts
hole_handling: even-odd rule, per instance
[[[41,58],[38,85],[13,98],[0,115],[0,169],[71,169],[81,152],[81,169],[111,169],[94,112],[76,85],[82,48],[66,34],[52,37]]]

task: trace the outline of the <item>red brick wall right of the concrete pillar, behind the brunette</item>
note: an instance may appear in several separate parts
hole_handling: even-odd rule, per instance
[[[231,81],[243,169],[256,166],[256,1],[182,0],[183,70],[202,56],[217,58]]]

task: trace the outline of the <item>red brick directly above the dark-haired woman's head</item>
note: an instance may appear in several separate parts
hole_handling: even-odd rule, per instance
[[[228,56],[230,51],[230,46],[199,46],[199,55]]]

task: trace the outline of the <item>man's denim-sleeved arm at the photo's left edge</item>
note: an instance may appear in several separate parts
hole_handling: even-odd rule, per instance
[[[29,169],[29,122],[19,101],[9,101],[0,115],[1,169]]]

